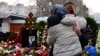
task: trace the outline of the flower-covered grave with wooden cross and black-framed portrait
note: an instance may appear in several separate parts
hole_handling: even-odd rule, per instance
[[[47,26],[44,21],[37,23],[36,20],[29,13],[16,36],[12,34],[8,41],[0,41],[0,56],[48,56]]]

